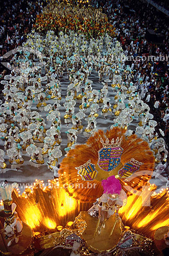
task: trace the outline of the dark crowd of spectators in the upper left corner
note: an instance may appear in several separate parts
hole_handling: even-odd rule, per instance
[[[36,15],[42,12],[45,0],[5,0],[0,6],[0,58],[22,45],[32,29]],[[0,79],[8,72],[1,65]]]

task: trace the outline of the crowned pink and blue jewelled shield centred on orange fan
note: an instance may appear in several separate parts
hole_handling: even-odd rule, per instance
[[[120,163],[120,158],[123,153],[123,148],[120,147],[120,143],[122,142],[122,138],[116,138],[114,143],[114,139],[109,143],[109,139],[106,139],[106,143],[101,139],[103,147],[98,151],[99,160],[98,165],[102,170],[106,172],[111,172],[111,170],[115,169]]]

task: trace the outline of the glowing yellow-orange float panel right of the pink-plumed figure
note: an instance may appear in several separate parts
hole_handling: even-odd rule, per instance
[[[148,194],[143,200],[142,197],[139,198],[135,194],[130,195],[126,206],[119,209],[120,217],[125,224],[148,237],[153,237],[154,230],[157,228],[169,225],[167,190],[164,189],[156,198],[151,196],[151,193],[148,190]],[[142,203],[145,203],[149,196],[151,196],[151,204],[145,207]]]

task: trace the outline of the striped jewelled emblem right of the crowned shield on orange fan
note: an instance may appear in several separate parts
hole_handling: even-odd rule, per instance
[[[132,158],[130,162],[125,163],[124,167],[118,171],[119,178],[128,178],[139,170],[142,163]]]

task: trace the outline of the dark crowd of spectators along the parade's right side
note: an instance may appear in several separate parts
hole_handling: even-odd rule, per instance
[[[122,42],[126,56],[130,56],[133,83],[142,100],[150,105],[163,137],[169,142],[169,47],[168,19],[146,0],[100,1],[104,12],[114,25],[117,40]],[[126,11],[125,7],[129,6]],[[163,43],[146,39],[147,29],[163,34]]]

